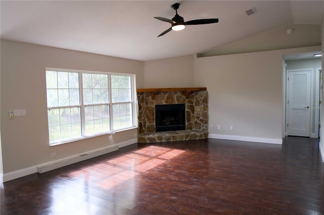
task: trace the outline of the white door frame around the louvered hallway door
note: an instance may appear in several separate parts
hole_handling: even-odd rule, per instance
[[[289,108],[288,108],[288,99],[289,99],[289,81],[288,81],[288,77],[289,77],[289,72],[298,72],[298,71],[305,71],[305,70],[309,70],[310,71],[310,126],[309,126],[309,137],[310,138],[318,138],[318,125],[316,122],[318,122],[319,119],[319,108],[318,108],[318,104],[319,104],[319,70],[317,70],[314,72],[314,69],[293,69],[293,70],[287,70],[286,69],[286,96],[285,96],[285,113],[286,113],[286,123],[285,123],[285,135],[288,135],[288,116],[289,116]],[[315,79],[315,81],[314,81]],[[315,91],[315,92],[314,92]],[[315,93],[315,95],[314,95]],[[314,97],[315,96],[315,97]],[[314,119],[313,119],[313,115]],[[315,121],[315,122],[314,122]],[[315,124],[315,125],[314,125]],[[314,132],[313,132],[314,130]]]

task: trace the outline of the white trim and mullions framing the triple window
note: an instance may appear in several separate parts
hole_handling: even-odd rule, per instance
[[[98,137],[98,136],[103,136],[103,135],[108,135],[108,134],[114,134],[116,132],[123,132],[123,131],[127,131],[127,130],[131,130],[131,129],[136,129],[138,128],[138,122],[137,122],[137,94],[136,94],[136,75],[135,74],[128,74],[128,73],[111,73],[111,72],[98,72],[98,71],[87,71],[87,70],[71,70],[71,69],[59,69],[59,68],[45,68],[45,71],[56,71],[56,72],[74,72],[74,73],[79,73],[79,74],[83,74],[83,73],[91,73],[91,74],[105,74],[108,75],[108,82],[109,82],[109,88],[108,88],[108,93],[109,93],[109,103],[108,105],[110,105],[110,110],[109,110],[109,120],[110,120],[110,128],[113,128],[113,111],[112,111],[112,105],[113,104],[120,104],[120,103],[131,103],[132,104],[132,117],[133,117],[133,126],[131,127],[127,127],[127,128],[122,128],[122,129],[117,129],[117,130],[110,130],[107,132],[101,132],[101,133],[96,133],[96,134],[90,134],[90,135],[83,135],[80,137],[75,137],[75,138],[69,138],[69,139],[64,139],[62,141],[56,142],[56,143],[50,143],[49,140],[49,146],[55,146],[55,145],[60,145],[60,144],[65,144],[65,143],[70,143],[70,142],[75,142],[75,141],[79,141],[79,140],[85,140],[85,139],[89,139],[89,138],[93,138],[93,137]],[[131,102],[112,102],[111,99],[111,76],[110,75],[121,75],[121,76],[131,76],[131,98],[132,101]],[[84,106],[87,106],[84,104],[83,101],[83,82],[81,81],[82,79],[80,78],[79,75],[79,96],[80,96],[80,105],[74,105],[74,106],[79,106],[80,107],[80,118],[81,118],[81,126],[84,127],[85,126],[85,113],[84,113]],[[93,104],[91,104],[93,105]],[[47,106],[47,105],[46,105]],[[73,105],[69,106],[72,107]],[[55,107],[55,108],[62,108],[62,107]],[[49,109],[47,107],[47,109]],[[82,128],[82,131],[85,131],[84,128]]]

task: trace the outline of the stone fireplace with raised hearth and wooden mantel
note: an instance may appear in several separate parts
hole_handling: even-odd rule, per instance
[[[208,138],[208,93],[206,88],[137,89],[137,100],[138,142]],[[175,104],[177,108],[182,106],[183,115],[179,115],[178,111],[170,112],[172,104]],[[157,115],[160,117],[162,115],[164,122],[156,122],[159,117]],[[179,120],[184,120],[184,125],[180,123],[170,131],[169,127],[174,126],[170,124],[178,123]],[[161,128],[159,128],[160,126]]]

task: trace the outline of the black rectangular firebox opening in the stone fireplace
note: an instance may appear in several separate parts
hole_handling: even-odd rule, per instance
[[[155,131],[186,130],[185,104],[156,104]]]

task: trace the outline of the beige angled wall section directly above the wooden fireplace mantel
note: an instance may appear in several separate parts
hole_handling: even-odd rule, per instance
[[[144,88],[192,87],[193,58],[189,55],[144,62]]]

